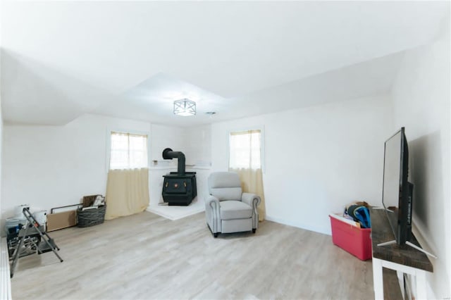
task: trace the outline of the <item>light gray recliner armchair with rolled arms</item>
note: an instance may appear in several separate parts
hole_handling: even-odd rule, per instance
[[[219,233],[255,233],[259,227],[257,206],[260,197],[243,193],[240,177],[233,172],[216,172],[209,176],[209,196],[205,201],[206,223],[214,237]]]

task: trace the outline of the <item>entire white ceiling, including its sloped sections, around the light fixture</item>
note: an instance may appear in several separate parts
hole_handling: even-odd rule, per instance
[[[3,1],[8,123],[199,125],[388,92],[449,2]],[[172,114],[197,101],[197,115]],[[216,111],[213,118],[206,111]]]

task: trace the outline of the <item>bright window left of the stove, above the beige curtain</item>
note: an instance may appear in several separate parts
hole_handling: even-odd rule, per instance
[[[147,135],[111,132],[110,169],[147,166]]]

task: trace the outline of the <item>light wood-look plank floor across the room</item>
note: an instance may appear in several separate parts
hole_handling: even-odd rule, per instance
[[[13,299],[373,299],[371,261],[269,221],[214,239],[204,213],[144,212],[49,235],[64,262],[20,258]]]

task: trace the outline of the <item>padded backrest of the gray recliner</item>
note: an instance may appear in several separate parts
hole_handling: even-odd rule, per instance
[[[241,201],[242,189],[240,177],[233,172],[216,172],[209,176],[209,193],[219,201]]]

